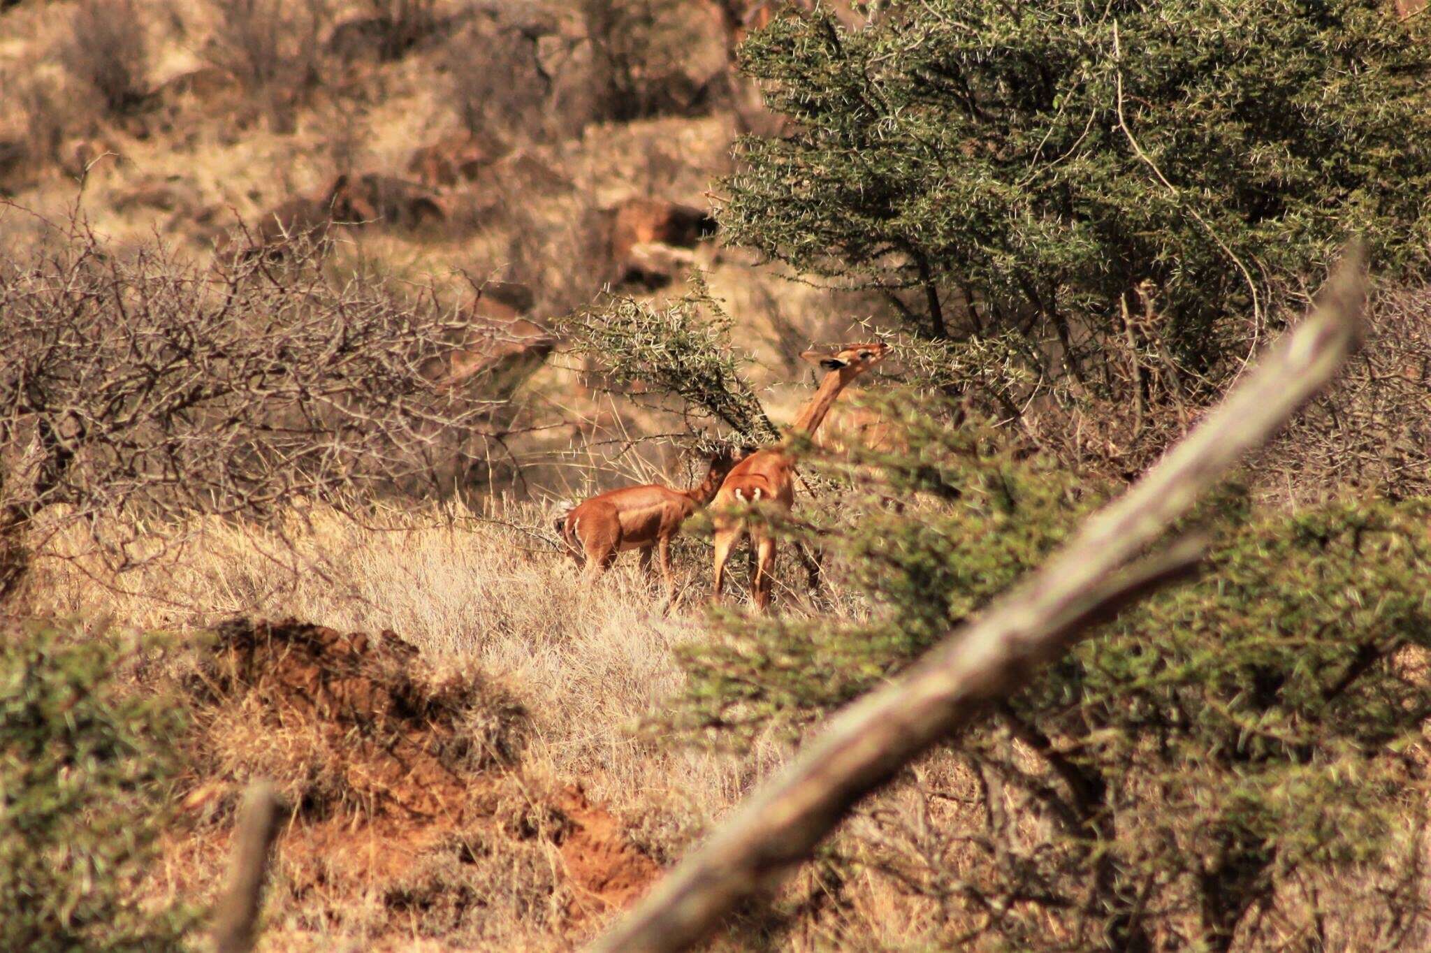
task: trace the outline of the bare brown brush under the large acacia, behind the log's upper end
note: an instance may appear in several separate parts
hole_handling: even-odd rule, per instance
[[[1398,499],[1431,492],[1428,315],[1431,288],[1377,292],[1367,346],[1259,456],[1251,472],[1259,494],[1311,501],[1348,485]],[[1122,332],[1088,332],[1082,342],[1083,353],[1103,355],[1102,373],[1086,383],[1050,366],[1047,349],[1009,335],[986,343],[986,353],[966,352],[977,359],[960,362],[969,371],[960,388],[1070,465],[1130,478],[1238,375],[1235,361],[1203,373],[1178,363],[1152,303],[1128,309]],[[1000,368],[1002,381],[976,372],[989,366]]]

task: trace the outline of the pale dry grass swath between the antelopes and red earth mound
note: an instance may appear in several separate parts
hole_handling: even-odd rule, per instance
[[[439,671],[477,667],[499,677],[531,717],[527,770],[580,780],[640,827],[658,856],[678,850],[781,758],[773,744],[738,760],[668,750],[634,733],[675,688],[673,647],[701,631],[698,581],[665,611],[660,587],[634,559],[587,585],[545,541],[462,509],[359,522],[309,508],[272,528],[196,519],[155,529],[166,539],[162,552],[156,545],[153,561],[120,574],[86,555],[87,532],[52,538],[36,554],[30,610],[150,630],[193,631],[239,614],[392,630]]]

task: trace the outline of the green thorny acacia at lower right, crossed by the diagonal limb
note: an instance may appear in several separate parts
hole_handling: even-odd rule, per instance
[[[867,608],[721,615],[683,655],[688,731],[790,731],[867,691],[1103,497],[992,431],[904,398],[881,409],[906,449],[809,459],[846,491],[784,527],[819,541],[837,588]],[[1226,949],[1256,929],[1254,909],[1259,924],[1311,929],[1321,912],[1289,899],[1292,884],[1334,883],[1378,897],[1358,949],[1402,942],[1428,913],[1412,750],[1431,715],[1428,517],[1422,502],[1358,499],[1256,515],[1234,491],[1205,505],[1195,522],[1215,542],[1198,581],[1129,610],[949,743],[987,810],[949,824],[927,880],[909,856],[892,861],[952,912],[930,939]]]

